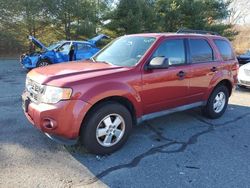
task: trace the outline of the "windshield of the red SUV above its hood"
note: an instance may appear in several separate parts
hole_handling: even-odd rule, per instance
[[[154,41],[153,37],[124,36],[111,42],[93,59],[112,65],[132,67],[139,62]]]

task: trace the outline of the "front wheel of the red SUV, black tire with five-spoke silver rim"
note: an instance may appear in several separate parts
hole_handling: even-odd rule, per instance
[[[129,110],[119,103],[106,102],[94,107],[86,117],[80,131],[80,140],[90,153],[109,154],[123,146],[131,129]]]

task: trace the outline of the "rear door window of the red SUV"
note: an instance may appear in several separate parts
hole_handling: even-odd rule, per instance
[[[213,61],[213,50],[204,39],[189,39],[192,63]]]

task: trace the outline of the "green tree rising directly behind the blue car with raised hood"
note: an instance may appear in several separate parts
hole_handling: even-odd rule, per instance
[[[107,0],[45,0],[52,24],[63,27],[65,38],[79,38],[96,33],[107,12]]]

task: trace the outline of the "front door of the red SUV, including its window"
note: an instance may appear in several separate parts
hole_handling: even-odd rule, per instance
[[[144,70],[142,103],[144,114],[163,111],[188,103],[190,68],[184,39],[167,39],[154,52],[154,57],[168,58],[169,67]],[[152,59],[151,58],[151,59]]]

